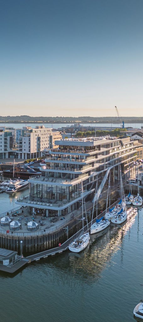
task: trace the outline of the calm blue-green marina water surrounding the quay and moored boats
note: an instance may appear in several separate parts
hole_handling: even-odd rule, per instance
[[[0,194],[1,213],[14,201]],[[130,208],[124,225],[92,235],[82,254],[66,251],[15,275],[0,272],[1,320],[135,321],[133,309],[143,297],[142,245],[143,210]]]

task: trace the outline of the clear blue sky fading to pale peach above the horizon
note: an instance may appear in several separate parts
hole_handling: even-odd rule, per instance
[[[0,0],[0,115],[143,116],[143,0]]]

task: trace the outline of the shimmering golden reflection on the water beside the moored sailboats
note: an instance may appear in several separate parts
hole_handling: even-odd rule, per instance
[[[131,226],[135,222],[135,217],[140,210],[130,208],[128,210],[128,219],[121,225],[111,224],[106,230],[91,235],[90,247],[83,256],[76,258],[69,254],[69,261],[72,273],[78,276],[92,280],[98,280],[101,272],[107,267],[112,266],[115,262],[112,260],[113,255],[120,250],[120,265],[123,266],[124,254],[124,237],[125,234],[131,233]],[[138,215],[139,216],[139,215]]]

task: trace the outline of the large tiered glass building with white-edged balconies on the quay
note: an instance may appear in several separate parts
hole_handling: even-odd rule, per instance
[[[31,212],[42,208],[45,215],[63,216],[79,209],[82,186],[85,201],[92,201],[98,181],[98,197],[107,189],[109,172],[111,184],[134,173],[136,141],[129,138],[57,140],[59,146],[49,151],[40,164],[42,175],[29,179],[28,201],[22,201]]]

